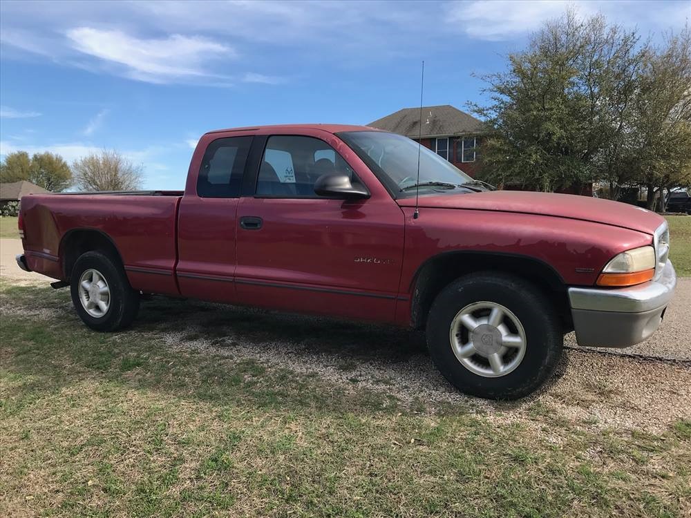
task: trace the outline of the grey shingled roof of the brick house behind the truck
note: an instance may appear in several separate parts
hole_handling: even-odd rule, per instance
[[[410,138],[418,138],[420,133],[420,108],[403,108],[391,115],[370,122],[368,126],[391,133],[399,133]],[[482,133],[483,124],[473,115],[460,111],[450,104],[422,107],[422,136],[445,137],[447,135],[467,135]]]

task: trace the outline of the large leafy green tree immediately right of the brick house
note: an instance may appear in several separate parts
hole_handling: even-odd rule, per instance
[[[553,191],[596,179],[621,183],[625,135],[646,45],[635,31],[574,10],[543,26],[509,70],[484,77],[489,106],[484,175]]]

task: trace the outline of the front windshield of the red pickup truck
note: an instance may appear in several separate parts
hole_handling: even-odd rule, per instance
[[[372,169],[395,198],[414,198],[416,184],[419,184],[420,195],[424,195],[457,193],[460,184],[473,182],[451,162],[408,137],[384,131],[348,131],[339,133],[339,137]]]

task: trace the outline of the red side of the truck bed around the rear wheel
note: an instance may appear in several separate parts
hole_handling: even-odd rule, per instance
[[[120,252],[135,289],[177,294],[173,272],[181,197],[180,191],[25,196],[21,209],[28,266],[64,279],[65,247],[80,231],[96,230]]]

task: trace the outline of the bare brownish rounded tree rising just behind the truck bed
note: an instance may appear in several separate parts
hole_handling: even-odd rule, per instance
[[[101,151],[75,161],[75,184],[82,191],[135,191],[142,186],[142,167],[117,151]]]

